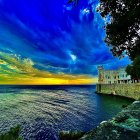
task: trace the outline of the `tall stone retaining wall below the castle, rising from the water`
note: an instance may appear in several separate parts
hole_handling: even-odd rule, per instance
[[[97,84],[97,93],[113,94],[133,99],[140,99],[140,83],[134,84]]]

